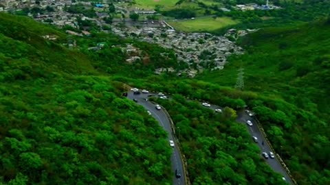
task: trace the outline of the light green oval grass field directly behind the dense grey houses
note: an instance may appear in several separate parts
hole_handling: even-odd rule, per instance
[[[234,21],[232,18],[228,17],[218,17],[214,19],[210,16],[206,16],[195,18],[194,20],[168,21],[168,23],[184,32],[212,32],[228,25],[235,25],[239,23],[239,21]]]

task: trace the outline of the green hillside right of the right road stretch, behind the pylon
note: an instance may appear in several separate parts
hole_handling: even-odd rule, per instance
[[[241,45],[243,56],[198,78],[233,87],[237,69],[245,69],[245,90],[263,98],[240,97],[254,108],[298,184],[329,184],[329,18],[263,29]]]

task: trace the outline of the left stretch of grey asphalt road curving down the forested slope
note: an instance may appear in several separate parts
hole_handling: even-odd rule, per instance
[[[137,99],[137,103],[143,106],[146,110],[151,112],[151,115],[158,121],[159,125],[161,125],[164,130],[168,133],[168,140],[173,140],[175,143],[175,147],[173,147],[173,153],[170,157],[170,161],[172,162],[172,170],[173,170],[173,184],[175,185],[184,185],[185,184],[185,178],[184,178],[184,167],[182,164],[181,156],[179,153],[179,149],[177,149],[177,142],[175,138],[173,137],[172,130],[170,129],[170,121],[168,120],[168,117],[166,116],[165,112],[163,110],[157,110],[155,108],[155,105],[149,101],[145,101],[144,99],[148,98],[147,96],[150,94],[140,94],[140,95],[133,95],[133,92],[129,92],[127,97],[129,99]],[[168,141],[168,146],[169,146]],[[181,177],[176,178],[175,177],[175,169],[179,169],[181,172]]]

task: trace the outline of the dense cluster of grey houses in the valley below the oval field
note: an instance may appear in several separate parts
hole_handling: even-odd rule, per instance
[[[163,24],[166,25],[166,24]],[[214,36],[208,33],[184,33],[177,32],[167,26],[159,27],[116,27],[113,32],[122,36],[132,36],[150,43],[156,43],[162,47],[173,49],[177,54],[177,60],[186,62],[188,69],[179,71],[194,77],[203,69],[223,69],[228,56],[241,54],[243,49],[235,45],[224,36]],[[127,62],[137,60],[136,56],[128,58]],[[156,69],[155,73],[172,71],[172,69]]]

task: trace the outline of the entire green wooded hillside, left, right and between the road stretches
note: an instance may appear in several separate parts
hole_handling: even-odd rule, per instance
[[[171,184],[167,134],[121,97],[123,83],[179,94],[157,101],[181,128],[195,184],[283,183],[234,121],[231,108],[245,104],[298,184],[329,184],[329,31],[330,21],[263,29],[241,40],[247,53],[223,71],[178,79],[152,75],[182,67],[168,49],[111,34],[68,36],[1,13],[0,184]],[[69,49],[73,40],[78,46]],[[100,42],[103,49],[88,49]],[[146,60],[124,62],[127,43]],[[223,87],[234,86],[241,67],[245,91]],[[181,95],[230,108],[219,116]]]

